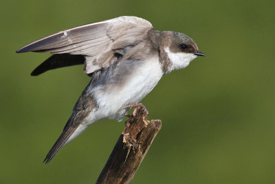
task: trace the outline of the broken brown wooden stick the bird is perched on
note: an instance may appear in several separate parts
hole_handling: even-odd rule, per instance
[[[144,111],[137,108],[136,115],[132,115],[125,125],[97,184],[130,183],[162,127],[162,121],[151,120],[149,123]]]

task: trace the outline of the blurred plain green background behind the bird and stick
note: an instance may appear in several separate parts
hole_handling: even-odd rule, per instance
[[[50,54],[21,46],[121,15],[192,37],[207,57],[142,101],[162,119],[132,183],[275,183],[275,1],[1,3],[0,183],[94,183],[124,123],[102,121],[42,163],[89,78],[82,66],[30,72]]]

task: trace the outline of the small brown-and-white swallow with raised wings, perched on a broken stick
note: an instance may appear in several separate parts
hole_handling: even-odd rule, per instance
[[[140,101],[162,76],[205,56],[186,34],[155,30],[146,19],[133,16],[63,30],[16,52],[52,54],[33,70],[32,76],[84,64],[83,72],[91,78],[44,163],[97,121],[121,121],[131,108],[137,107],[148,114]]]

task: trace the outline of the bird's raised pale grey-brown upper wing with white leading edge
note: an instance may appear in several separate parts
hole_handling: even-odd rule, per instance
[[[139,17],[118,17],[52,34],[25,45],[17,50],[17,53],[32,51],[83,55],[85,57],[84,72],[91,74],[115,62],[113,55],[116,50],[144,41],[148,37],[148,30],[152,28],[150,22]],[[50,69],[63,67],[61,64],[63,61],[56,63],[58,66],[50,65]],[[64,63],[64,66],[68,65]],[[80,61],[76,62],[76,64],[79,63]],[[69,65],[74,65],[74,63]],[[45,71],[50,69],[47,65],[43,68]]]

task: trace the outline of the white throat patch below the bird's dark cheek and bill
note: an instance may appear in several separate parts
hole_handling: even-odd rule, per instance
[[[168,58],[172,62],[172,65],[170,66],[170,68],[168,68],[168,72],[179,70],[181,68],[186,68],[186,66],[188,66],[189,63],[197,57],[195,54],[192,53],[170,52],[170,49],[168,47],[164,48],[164,51],[167,53]]]

